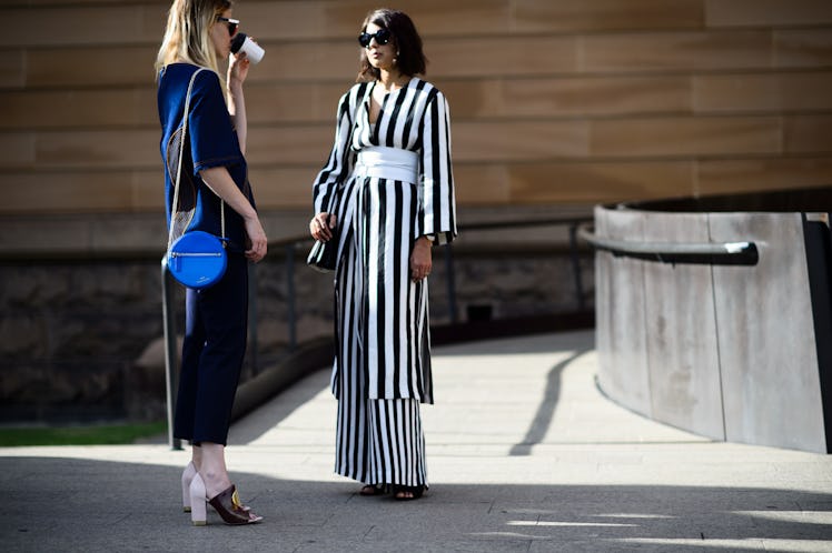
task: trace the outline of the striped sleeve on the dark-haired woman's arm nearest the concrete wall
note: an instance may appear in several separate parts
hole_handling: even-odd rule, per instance
[[[422,130],[422,207],[417,235],[434,237],[437,244],[456,238],[456,199],[450,160],[450,110],[436,91],[425,108]]]

